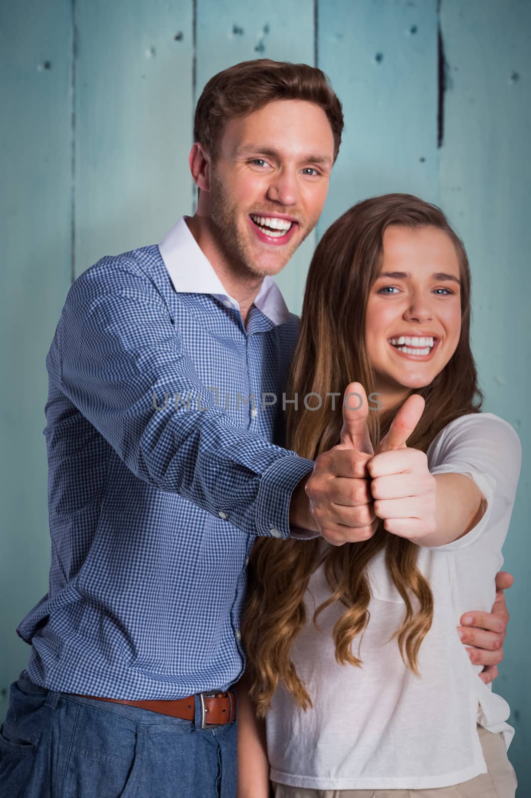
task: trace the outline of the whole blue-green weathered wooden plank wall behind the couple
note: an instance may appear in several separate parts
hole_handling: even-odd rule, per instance
[[[529,0],[2,4],[1,717],[28,656],[14,627],[47,589],[45,355],[67,290],[101,255],[157,242],[193,211],[193,109],[213,73],[255,57],[306,61],[331,78],[345,131],[321,223],[278,277],[290,308],[301,309],[317,236],[366,196],[439,203],[470,255],[486,409],[524,449],[496,689],[517,730],[518,795],[531,795],[530,31]]]

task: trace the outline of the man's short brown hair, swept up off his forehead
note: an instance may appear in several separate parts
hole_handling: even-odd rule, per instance
[[[223,69],[203,89],[194,119],[194,141],[217,155],[226,120],[246,116],[273,100],[305,100],[319,105],[332,128],[334,161],[339,152],[343,112],[328,77],[309,64],[257,58]]]

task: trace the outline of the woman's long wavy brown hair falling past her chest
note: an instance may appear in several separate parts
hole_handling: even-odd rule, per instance
[[[384,231],[390,225],[437,227],[454,243],[461,279],[461,335],[453,357],[435,380],[415,389],[426,401],[423,416],[407,445],[427,451],[444,426],[482,405],[478,376],[470,351],[470,268],[466,251],[443,211],[408,194],[387,194],[366,199],[340,216],[322,237],[310,263],[301,314],[300,334],[289,373],[286,395],[299,400],[288,405],[286,445],[314,460],[339,443],[341,400],[332,410],[332,397],[344,395],[349,382],[358,381],[369,395],[375,377],[365,346],[365,315],[373,283],[380,274]],[[317,393],[319,409],[300,408],[303,397]],[[308,402],[312,405],[312,402]],[[313,403],[317,407],[318,403]],[[368,413],[369,432],[375,446],[387,433],[395,410]],[[289,656],[293,640],[307,621],[304,596],[310,575],[322,562],[320,538],[309,541],[259,538],[250,557],[243,641],[252,678],[251,696],[263,716],[279,681],[293,693],[303,709],[312,705],[309,693]],[[342,602],[344,613],[333,628],[336,660],[360,666],[352,654],[352,641],[363,637],[368,624],[371,591],[366,575],[369,561],[385,549],[387,569],[405,603],[405,617],[397,638],[404,664],[418,675],[417,655],[433,618],[433,595],[417,566],[418,547],[390,535],[380,521],[375,535],[362,543],[329,547],[325,576],[331,595],[317,607],[317,615],[331,602]]]

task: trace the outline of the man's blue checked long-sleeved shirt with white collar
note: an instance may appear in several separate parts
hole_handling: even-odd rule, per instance
[[[46,358],[49,591],[18,626],[37,684],[179,698],[240,677],[250,548],[289,536],[313,468],[281,448],[297,324],[266,277],[246,329],[184,218],[73,283]]]

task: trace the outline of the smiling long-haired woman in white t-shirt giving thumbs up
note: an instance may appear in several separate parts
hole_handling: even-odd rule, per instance
[[[288,392],[317,399],[288,405],[287,443],[313,459],[337,444],[330,394],[359,381],[377,523],[340,547],[254,546],[247,678],[277,798],[514,796],[509,707],[455,629],[494,599],[521,460],[513,428],[480,412],[469,328],[466,252],[439,208],[368,199],[321,239]],[[241,695],[239,795],[261,798],[266,750]]]

